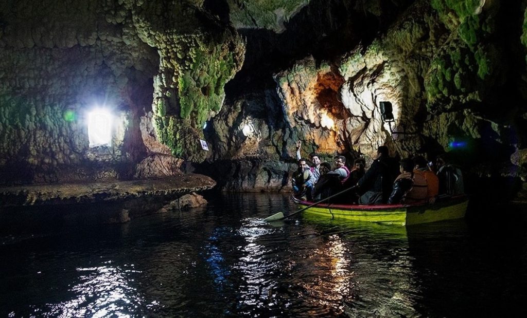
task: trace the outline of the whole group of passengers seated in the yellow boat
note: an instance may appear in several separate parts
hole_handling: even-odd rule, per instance
[[[460,168],[448,164],[444,155],[435,164],[424,156],[397,161],[389,156],[388,147],[377,148],[377,155],[366,170],[365,160],[357,158],[348,168],[346,157],[336,156],[333,167],[321,162],[320,155],[309,154],[310,164],[300,155],[301,141],[296,144],[298,169],[292,177],[295,197],[318,201],[330,196],[340,204],[398,204],[430,202],[438,196],[464,193]],[[343,190],[345,193],[336,195]]]

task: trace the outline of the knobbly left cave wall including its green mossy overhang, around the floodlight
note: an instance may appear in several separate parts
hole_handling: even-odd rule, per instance
[[[181,157],[199,161],[201,126],[244,48],[202,6],[2,2],[2,183],[157,177],[180,173]],[[114,114],[110,146],[89,147],[95,106]]]

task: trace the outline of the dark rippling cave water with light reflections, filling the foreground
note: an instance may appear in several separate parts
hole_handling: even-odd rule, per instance
[[[1,226],[0,316],[526,316],[521,208],[406,228],[262,221],[295,209],[216,195],[125,224]]]

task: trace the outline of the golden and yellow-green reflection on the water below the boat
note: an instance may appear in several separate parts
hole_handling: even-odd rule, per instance
[[[303,214],[302,222],[326,237],[318,254],[331,275],[314,299],[333,304],[331,314],[412,316],[419,293],[405,226]],[[324,297],[324,295],[326,295]],[[328,297],[329,295],[329,297]]]

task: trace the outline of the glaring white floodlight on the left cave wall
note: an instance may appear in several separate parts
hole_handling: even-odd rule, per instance
[[[88,139],[90,147],[110,146],[112,142],[112,114],[98,108],[88,113]]]

